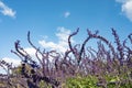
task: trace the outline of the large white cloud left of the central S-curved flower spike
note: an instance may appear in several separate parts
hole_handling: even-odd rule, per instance
[[[54,50],[59,53],[64,53],[68,48],[68,35],[70,34],[70,30],[61,26],[57,28],[57,31],[58,31],[58,33],[56,33],[56,36],[58,38],[57,43],[46,42],[45,40],[42,40],[38,41],[38,44],[41,44],[44,48]]]

